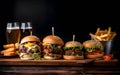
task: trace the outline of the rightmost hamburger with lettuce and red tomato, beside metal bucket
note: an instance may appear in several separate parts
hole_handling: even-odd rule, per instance
[[[101,58],[103,57],[103,45],[100,41],[87,40],[83,42],[85,54],[87,58]]]

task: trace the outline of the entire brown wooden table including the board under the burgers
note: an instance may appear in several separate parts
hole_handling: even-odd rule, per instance
[[[4,75],[115,75],[120,74],[119,61],[104,60],[20,60],[0,58],[0,74]]]

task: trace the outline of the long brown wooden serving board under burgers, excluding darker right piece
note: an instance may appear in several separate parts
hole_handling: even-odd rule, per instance
[[[36,65],[36,66],[80,66],[94,61],[84,60],[21,60],[20,58],[0,58],[0,65]]]

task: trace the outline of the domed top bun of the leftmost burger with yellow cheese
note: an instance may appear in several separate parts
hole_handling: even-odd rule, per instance
[[[22,40],[21,40],[21,44],[22,43],[25,43],[25,42],[40,42],[40,39],[37,37],[37,36],[35,36],[35,35],[29,35],[29,36],[25,36],[24,38],[22,38]]]

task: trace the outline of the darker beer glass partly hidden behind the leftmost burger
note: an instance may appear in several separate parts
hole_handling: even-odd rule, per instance
[[[31,22],[21,23],[21,39],[25,36],[31,35],[32,25]]]

